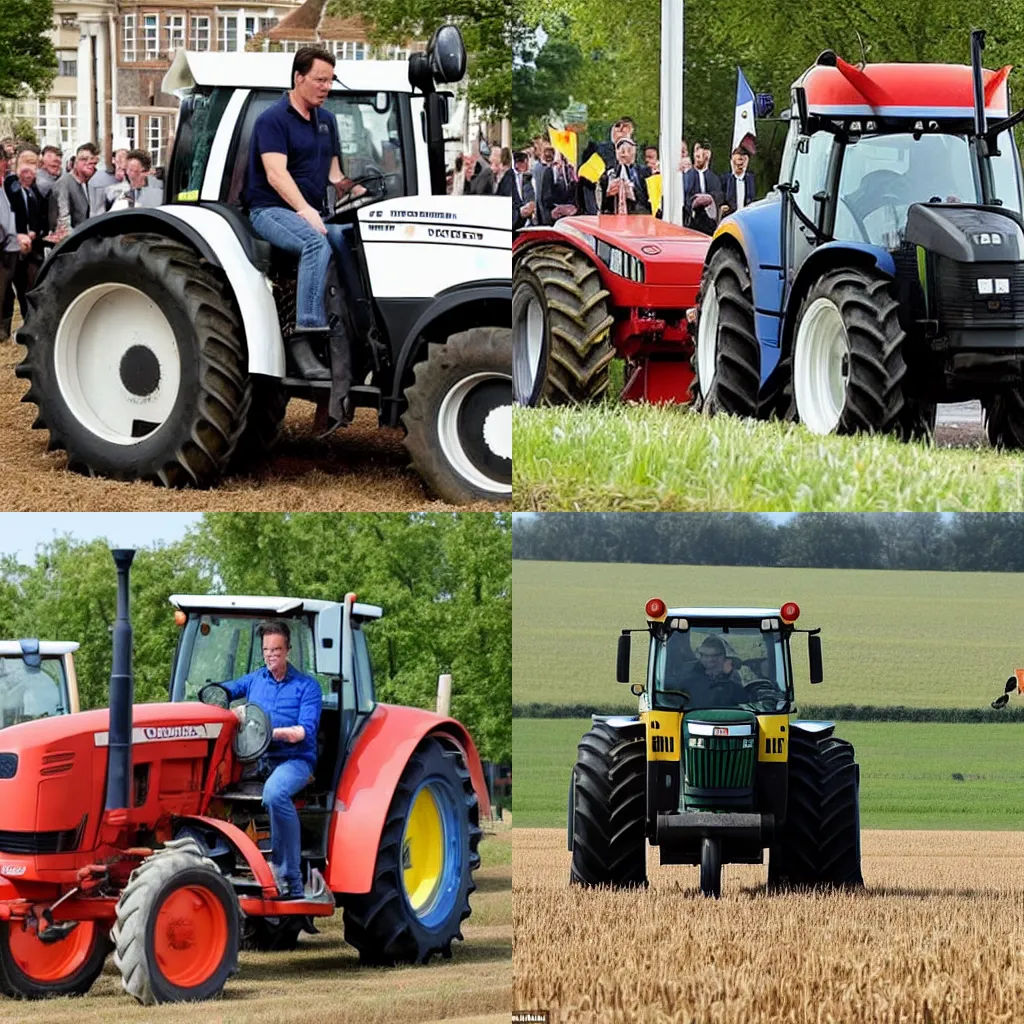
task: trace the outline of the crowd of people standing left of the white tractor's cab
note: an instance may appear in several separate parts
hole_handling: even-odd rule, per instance
[[[162,168],[150,154],[117,150],[99,169],[99,150],[83,142],[67,162],[55,145],[0,142],[0,342],[10,337],[17,299],[25,316],[47,250],[89,217],[163,203]]]

